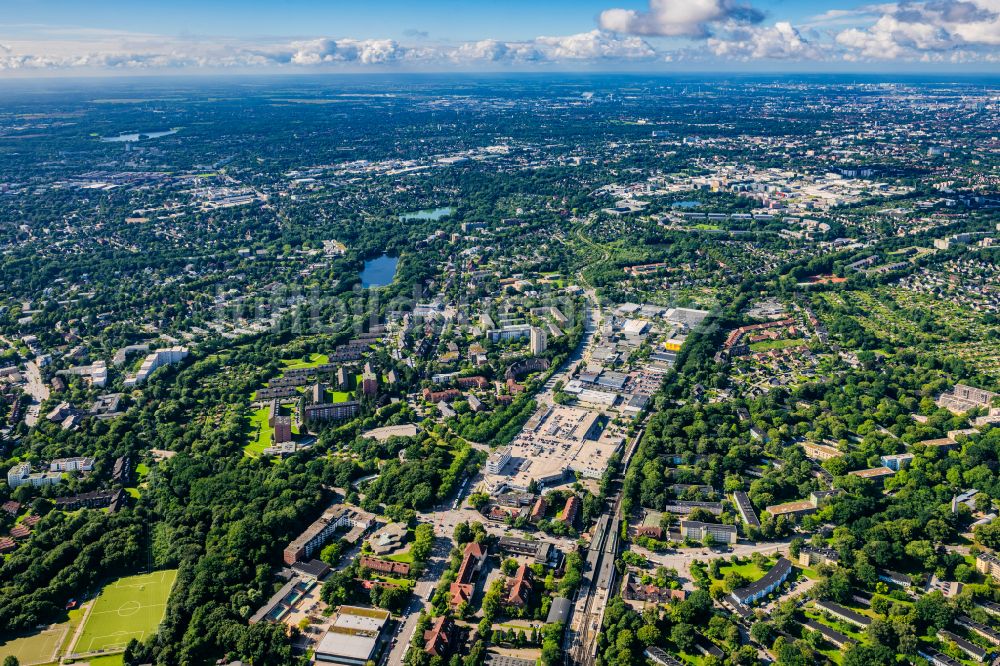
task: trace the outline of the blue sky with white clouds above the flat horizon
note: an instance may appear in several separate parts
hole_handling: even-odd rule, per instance
[[[0,0],[0,78],[1000,74],[1000,0]]]

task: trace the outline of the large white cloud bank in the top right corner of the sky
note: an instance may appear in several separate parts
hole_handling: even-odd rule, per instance
[[[988,56],[1000,46],[1000,0],[902,2],[882,10],[872,25],[837,34],[850,57],[919,60],[944,51]]]

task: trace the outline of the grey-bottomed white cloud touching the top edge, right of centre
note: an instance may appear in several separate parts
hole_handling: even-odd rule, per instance
[[[708,37],[712,24],[723,21],[757,23],[763,14],[738,0],[649,0],[649,9],[608,9],[601,12],[605,30],[631,35]]]

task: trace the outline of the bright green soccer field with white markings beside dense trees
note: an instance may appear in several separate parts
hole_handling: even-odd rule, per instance
[[[73,652],[123,650],[156,631],[167,608],[177,570],[127,576],[108,584],[94,602]]]

